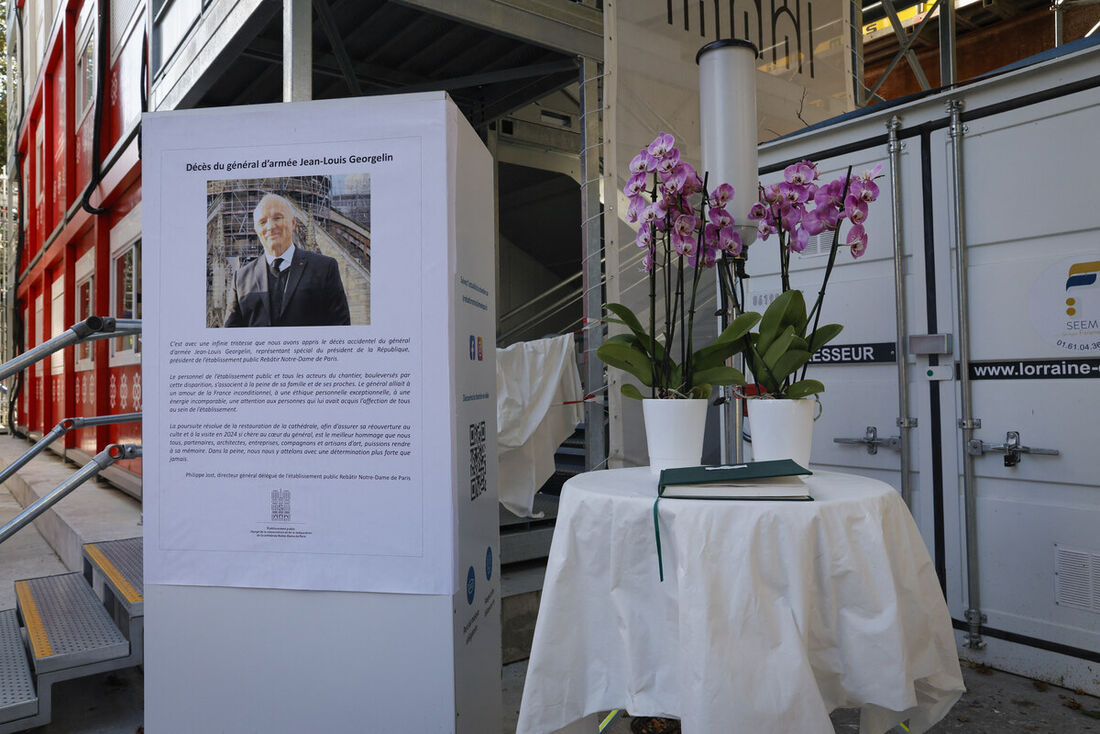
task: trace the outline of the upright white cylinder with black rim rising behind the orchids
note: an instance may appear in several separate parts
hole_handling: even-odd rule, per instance
[[[700,133],[703,139],[703,172],[707,187],[734,187],[727,207],[745,244],[756,238],[749,207],[757,200],[757,47],[740,39],[725,39],[698,50]]]

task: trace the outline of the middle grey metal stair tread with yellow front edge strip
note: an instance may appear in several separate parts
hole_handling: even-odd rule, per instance
[[[15,582],[38,675],[127,657],[130,643],[80,573]]]

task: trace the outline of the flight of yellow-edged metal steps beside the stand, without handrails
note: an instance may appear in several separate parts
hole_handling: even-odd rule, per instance
[[[48,724],[54,683],[141,665],[142,592],[140,537],[86,544],[82,574],[16,581],[18,609],[0,610],[0,734]]]

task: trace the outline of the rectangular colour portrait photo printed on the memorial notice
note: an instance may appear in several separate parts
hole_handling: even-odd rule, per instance
[[[370,326],[367,172],[207,182],[206,327]]]

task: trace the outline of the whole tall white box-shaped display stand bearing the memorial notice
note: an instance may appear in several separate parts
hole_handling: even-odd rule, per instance
[[[143,144],[146,730],[498,731],[488,152],[442,92]],[[296,254],[299,321],[226,328],[266,193],[342,285]],[[305,325],[337,288],[350,318]]]

